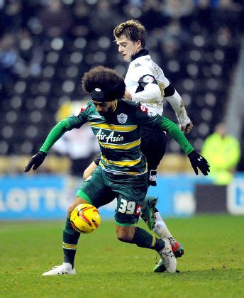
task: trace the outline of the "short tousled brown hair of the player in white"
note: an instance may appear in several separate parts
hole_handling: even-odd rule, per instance
[[[121,35],[125,35],[133,42],[140,40],[142,47],[145,47],[145,27],[137,20],[129,20],[116,26],[113,36],[120,38]]]

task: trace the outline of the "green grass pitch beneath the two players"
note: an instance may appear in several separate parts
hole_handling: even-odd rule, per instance
[[[180,273],[168,274],[153,273],[155,251],[117,241],[113,221],[102,221],[79,240],[77,275],[42,277],[62,263],[64,222],[0,222],[0,297],[244,297],[243,223],[167,219],[185,248]]]

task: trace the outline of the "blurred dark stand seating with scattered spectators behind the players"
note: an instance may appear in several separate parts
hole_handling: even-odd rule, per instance
[[[194,123],[188,138],[201,150],[227,113],[243,37],[242,0],[0,0],[0,155],[36,153],[60,115],[89,100],[81,78],[91,67],[126,74],[113,28],[131,18],[144,24],[146,48],[182,95]],[[167,104],[165,116],[177,121]],[[75,158],[92,160],[98,147],[87,141],[87,130],[75,138],[84,153]],[[56,151],[70,155],[74,146],[64,146]],[[169,138],[167,151],[180,148]]]

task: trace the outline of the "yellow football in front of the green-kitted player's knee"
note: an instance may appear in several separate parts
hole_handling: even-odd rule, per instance
[[[91,233],[99,227],[101,216],[96,207],[90,204],[79,204],[72,211],[70,222],[75,231]]]

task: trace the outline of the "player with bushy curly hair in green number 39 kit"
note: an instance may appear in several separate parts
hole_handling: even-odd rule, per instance
[[[25,172],[36,170],[44,161],[52,145],[66,131],[79,129],[89,123],[101,149],[99,166],[91,178],[79,187],[74,202],[68,209],[63,231],[64,262],[52,267],[43,275],[74,275],[74,257],[80,234],[72,228],[70,214],[82,203],[99,208],[117,199],[115,214],[116,234],[119,241],[136,244],[140,248],[157,251],[167,272],[175,272],[177,261],[169,239],[157,239],[143,228],[135,226],[148,191],[148,169],[140,150],[141,127],[164,130],[179,143],[188,155],[192,167],[208,175],[208,162],[189,143],[182,131],[169,119],[153,114],[140,103],[121,99],[125,93],[123,77],[115,71],[96,67],[82,78],[84,91],[91,101],[79,113],[74,114],[52,128],[40,151],[26,165]],[[85,140],[77,140],[82,142]]]

